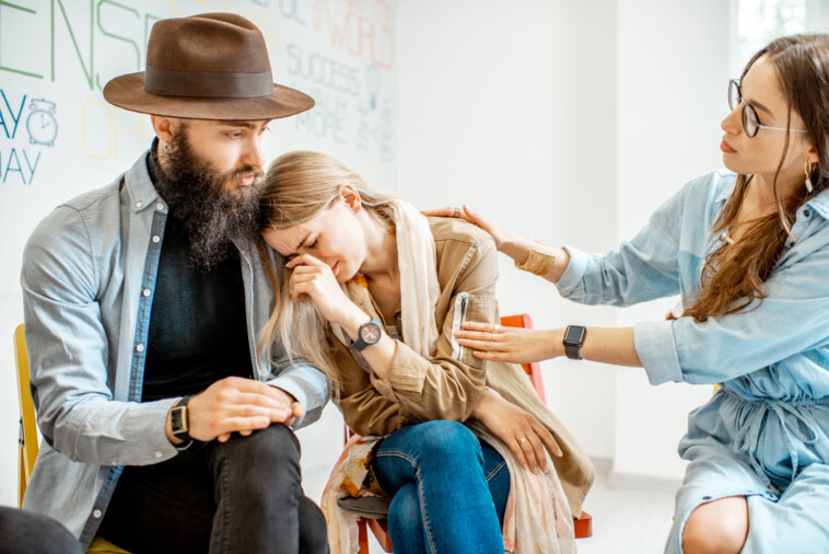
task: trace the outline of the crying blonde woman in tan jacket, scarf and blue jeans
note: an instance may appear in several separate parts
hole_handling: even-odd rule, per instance
[[[380,437],[369,475],[393,497],[395,552],[574,551],[589,461],[521,367],[453,341],[463,321],[497,321],[492,239],[320,153],[277,159],[264,188],[262,236],[289,262],[262,344],[327,369],[349,427]],[[329,542],[350,552],[330,528]]]

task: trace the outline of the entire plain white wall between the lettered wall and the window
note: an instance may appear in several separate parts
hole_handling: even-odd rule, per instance
[[[401,2],[399,189],[467,203],[551,244],[606,252],[689,178],[720,166],[728,3]],[[675,300],[582,307],[502,257],[502,313],[536,326],[630,325]],[[545,362],[548,402],[617,478],[677,481],[687,413],[710,389],[652,388],[641,369]]]

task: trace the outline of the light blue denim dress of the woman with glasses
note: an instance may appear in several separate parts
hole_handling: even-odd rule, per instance
[[[684,186],[630,242],[606,254],[567,247],[561,295],[630,305],[700,293],[711,227],[736,183],[714,172]],[[699,505],[746,496],[744,552],[829,552],[829,192],[802,206],[766,281],[767,297],[740,312],[637,324],[637,354],[652,384],[720,383],[688,417],[679,454],[689,462],[666,552]]]

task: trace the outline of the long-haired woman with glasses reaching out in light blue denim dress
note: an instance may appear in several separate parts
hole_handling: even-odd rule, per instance
[[[628,328],[468,323],[482,359],[568,356],[642,367],[652,384],[719,383],[689,416],[689,462],[666,552],[829,550],[829,36],[779,38],[728,85],[703,175],[606,254],[549,247],[465,208],[521,268],[587,304],[681,295]],[[435,210],[432,215],[448,215]]]

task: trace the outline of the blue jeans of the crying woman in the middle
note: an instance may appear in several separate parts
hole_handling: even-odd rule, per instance
[[[463,424],[404,427],[380,443],[373,469],[393,496],[388,534],[397,554],[503,554],[510,472]]]

